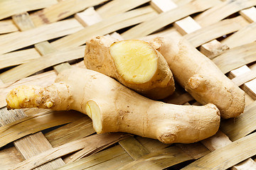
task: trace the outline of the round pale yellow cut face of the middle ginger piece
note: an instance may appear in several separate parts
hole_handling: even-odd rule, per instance
[[[117,72],[126,81],[144,84],[150,81],[157,69],[157,53],[142,40],[114,42],[110,46]]]

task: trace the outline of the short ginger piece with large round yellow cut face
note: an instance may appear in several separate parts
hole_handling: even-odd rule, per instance
[[[166,98],[175,89],[174,77],[164,57],[142,40],[91,38],[86,42],[85,66],[148,98]]]

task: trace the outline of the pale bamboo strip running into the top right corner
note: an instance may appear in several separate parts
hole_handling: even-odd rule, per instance
[[[225,1],[222,4],[214,6],[213,8],[210,8],[209,10],[196,16],[195,21],[203,27],[210,26],[211,24],[217,23],[233,13],[255,5],[255,0]]]

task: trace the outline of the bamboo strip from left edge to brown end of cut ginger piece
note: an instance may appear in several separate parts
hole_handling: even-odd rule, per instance
[[[55,64],[82,58],[84,55],[84,50],[85,47],[80,46],[67,51],[50,53],[44,57],[31,60],[30,62],[21,64],[18,67],[9,69],[9,71],[0,74],[0,79],[4,81],[4,83],[7,83],[28,77],[29,75],[36,73],[41,69],[45,69]]]

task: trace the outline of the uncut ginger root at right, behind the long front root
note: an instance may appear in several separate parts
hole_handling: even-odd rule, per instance
[[[186,40],[172,36],[154,38],[150,43],[165,57],[176,81],[196,101],[215,104],[222,118],[234,118],[244,111],[245,92]]]

